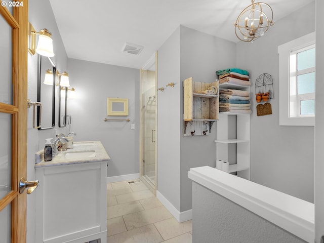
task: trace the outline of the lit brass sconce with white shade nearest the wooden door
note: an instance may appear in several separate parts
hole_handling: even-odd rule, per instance
[[[36,34],[39,34],[37,48],[35,49]],[[41,29],[36,32],[34,27],[29,23],[28,28],[28,51],[34,55],[35,52],[45,57],[53,57],[53,40],[52,33],[48,29]]]

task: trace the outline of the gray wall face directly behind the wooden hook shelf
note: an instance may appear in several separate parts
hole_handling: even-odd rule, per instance
[[[235,66],[235,43],[180,26],[180,212],[191,209],[190,168],[216,167],[216,126],[208,136],[183,136],[183,80],[211,83],[216,80],[216,70]],[[159,128],[158,128],[159,129]]]

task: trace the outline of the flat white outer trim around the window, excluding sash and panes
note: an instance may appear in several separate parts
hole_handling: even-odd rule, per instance
[[[279,54],[279,125],[280,126],[314,126],[315,117],[290,117],[289,115],[289,84],[290,54],[294,49],[315,43],[315,32],[294,39],[278,46]]]

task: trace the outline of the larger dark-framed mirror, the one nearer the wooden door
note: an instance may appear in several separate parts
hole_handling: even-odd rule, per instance
[[[38,55],[37,102],[42,103],[42,111],[37,106],[38,130],[52,129],[55,126],[55,74],[56,67],[52,59]]]

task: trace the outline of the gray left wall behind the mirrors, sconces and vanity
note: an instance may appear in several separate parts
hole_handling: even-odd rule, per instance
[[[58,31],[54,14],[48,0],[29,1],[29,22],[36,31],[47,28],[52,33],[53,48],[55,56],[52,60],[60,72],[67,70],[67,55],[63,42]],[[38,40],[38,36],[36,37]],[[67,70],[68,71],[68,70]],[[37,55],[32,56],[28,53],[28,99],[35,102],[37,100]],[[56,96],[56,119],[55,125],[58,127],[58,96]],[[43,114],[52,111],[43,110]],[[44,148],[45,138],[54,137],[54,129],[38,131],[32,128],[33,110],[28,109],[27,113],[27,179],[35,180],[34,154],[36,151]],[[66,133],[68,128],[58,129],[58,132]],[[42,183],[42,181],[40,181]],[[35,193],[27,196],[27,242],[35,242],[34,229],[35,214]]]

